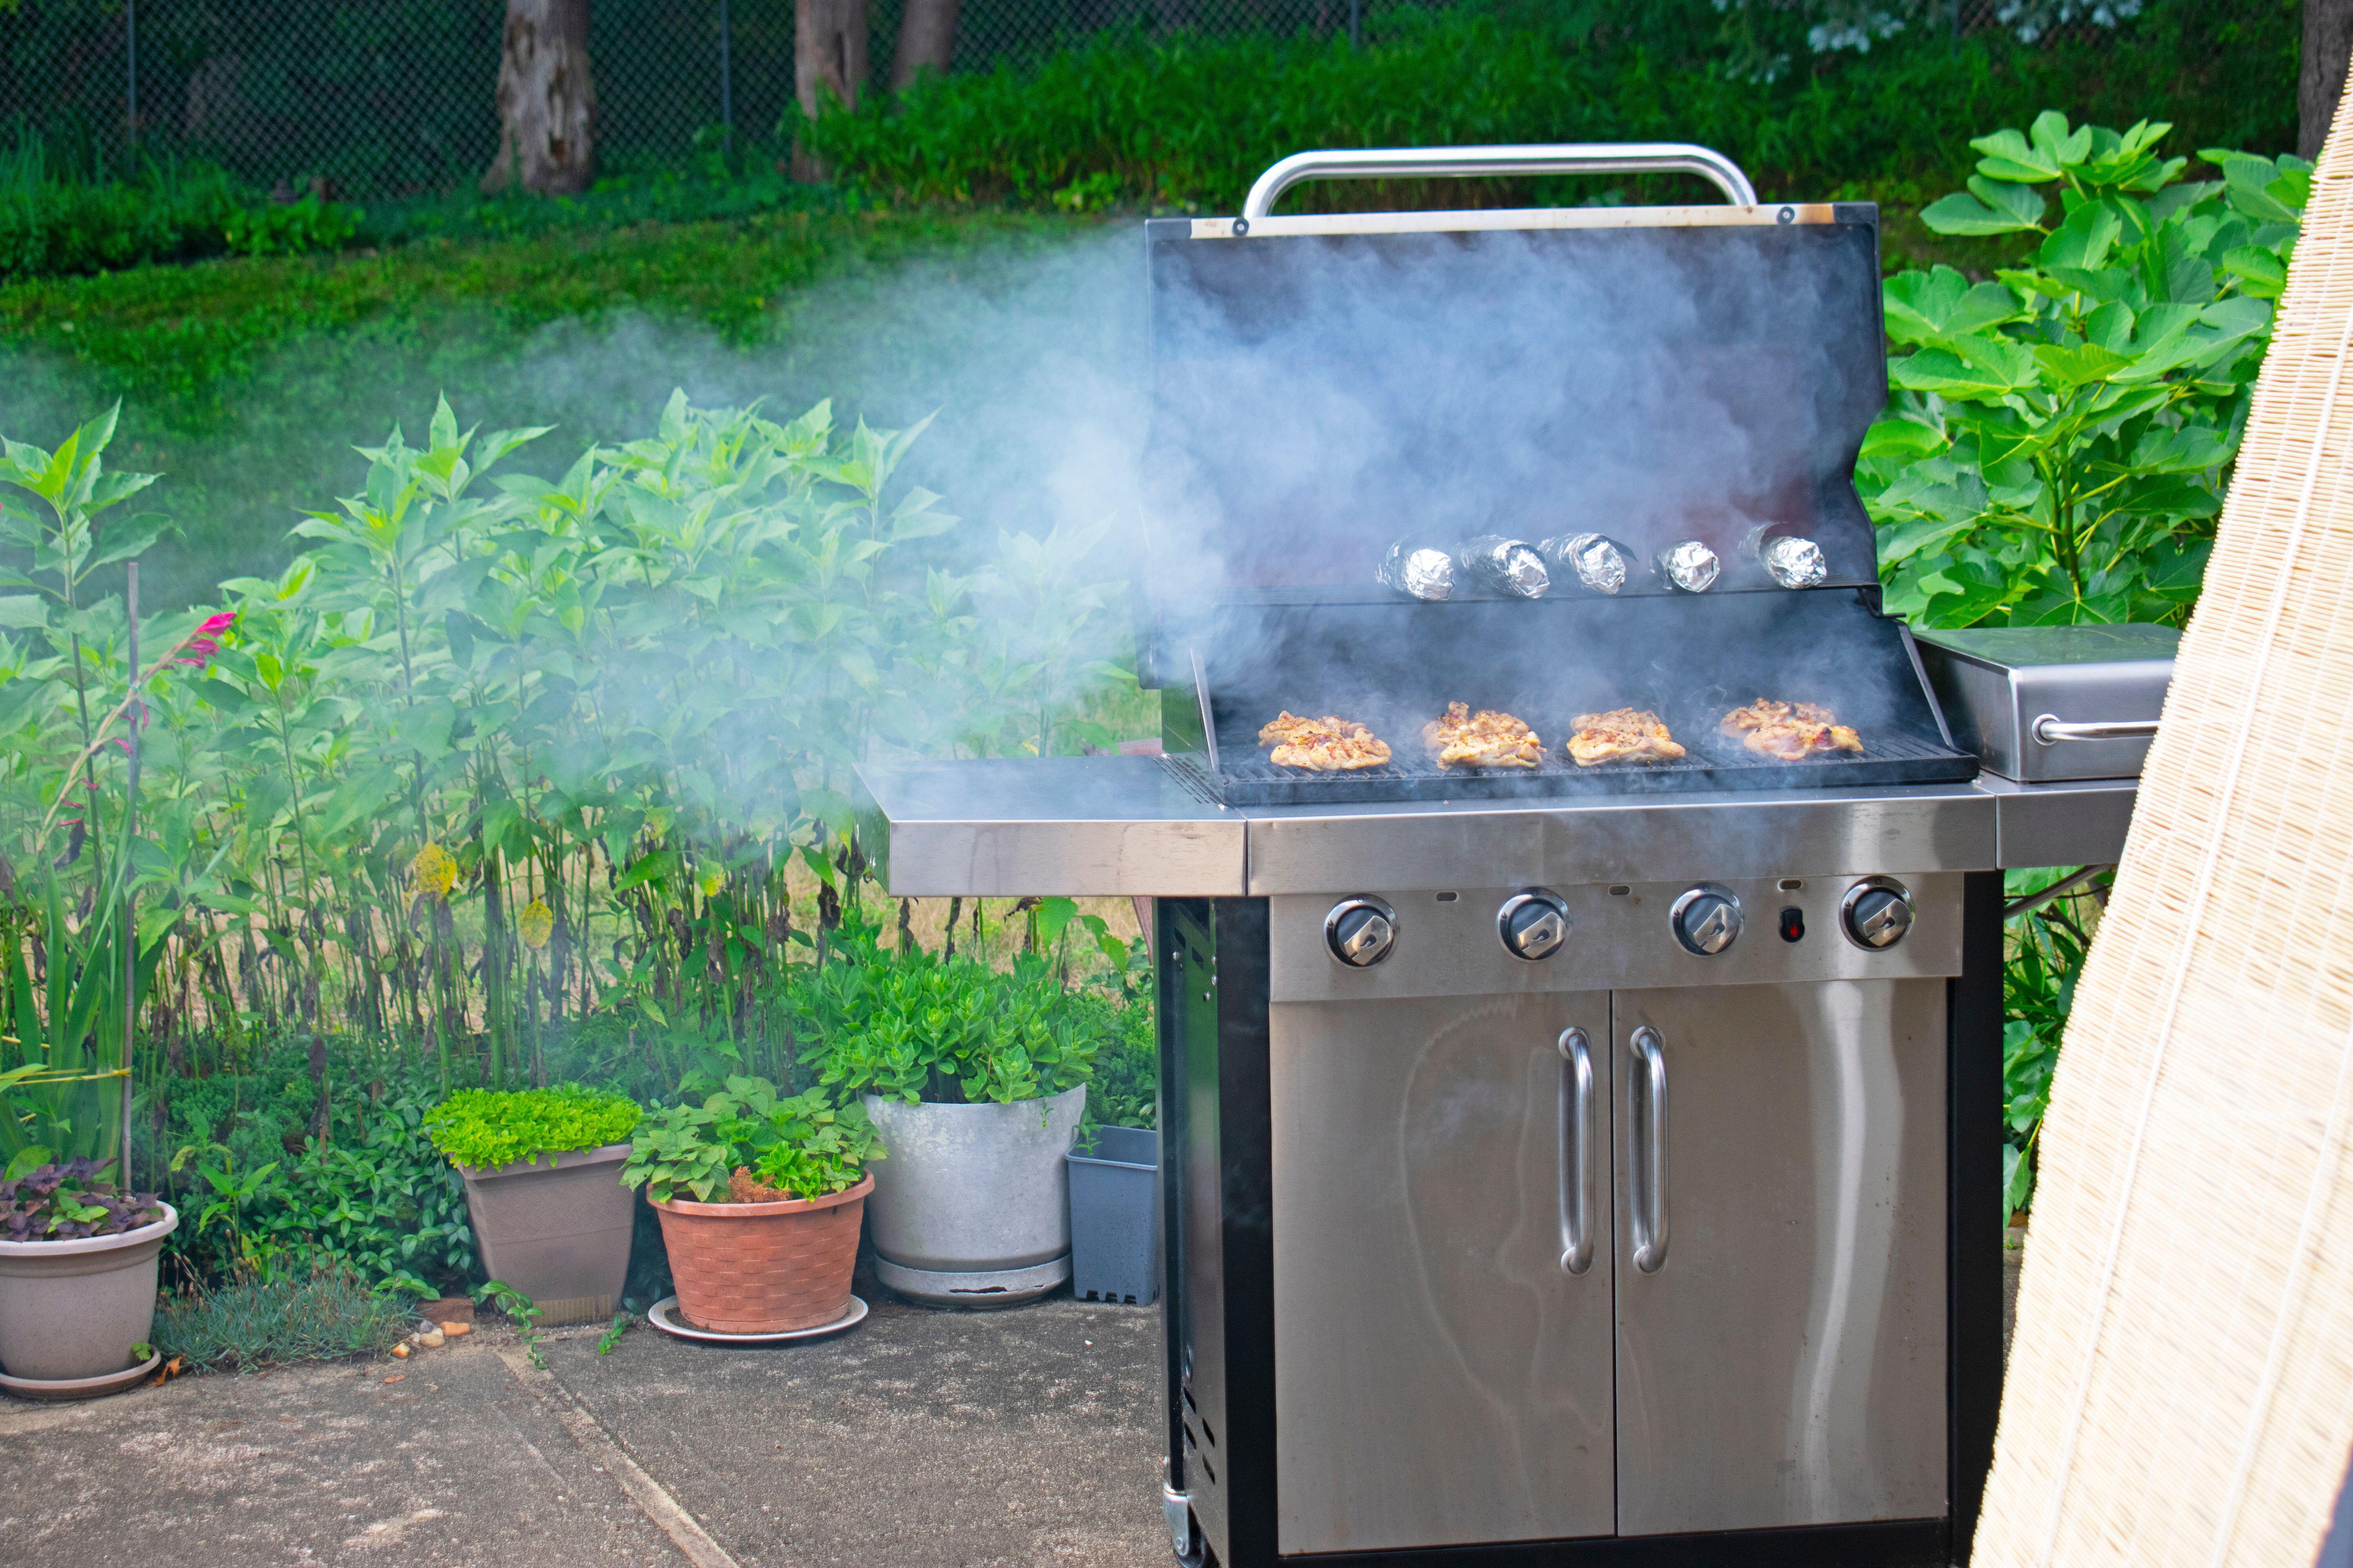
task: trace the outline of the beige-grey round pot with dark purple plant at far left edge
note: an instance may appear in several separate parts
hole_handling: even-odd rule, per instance
[[[155,1255],[179,1213],[71,1159],[0,1182],[0,1387],[80,1399],[153,1363]]]

